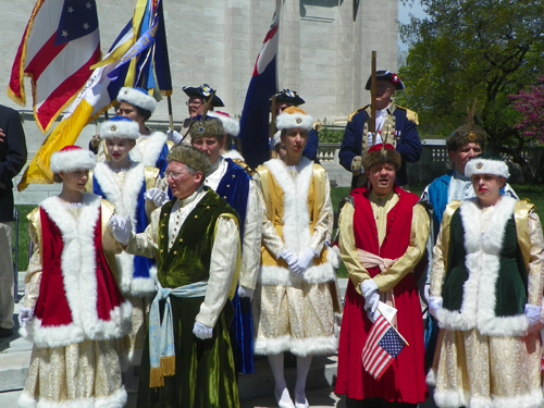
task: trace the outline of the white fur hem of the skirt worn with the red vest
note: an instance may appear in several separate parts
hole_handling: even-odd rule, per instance
[[[66,400],[63,403],[52,401],[46,398],[36,400],[26,390],[23,391],[17,399],[20,408],[122,408],[126,405],[127,395],[122,386],[113,394],[107,397],[89,397]]]

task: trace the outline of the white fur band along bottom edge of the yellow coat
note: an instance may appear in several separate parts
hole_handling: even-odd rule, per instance
[[[288,269],[276,265],[261,265],[259,269],[259,283],[261,285],[300,287],[302,282],[325,283],[335,279],[334,268],[329,262],[308,268],[304,275],[292,273]]]

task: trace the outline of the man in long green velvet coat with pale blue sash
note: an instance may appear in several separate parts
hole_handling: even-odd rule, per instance
[[[164,173],[174,199],[151,213],[141,234],[115,218],[128,254],[157,258],[157,296],[149,314],[138,407],[238,407],[228,325],[239,268],[238,215],[203,187],[210,161],[174,147]]]

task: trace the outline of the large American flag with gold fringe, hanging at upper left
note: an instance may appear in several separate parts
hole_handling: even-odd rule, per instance
[[[25,106],[24,76],[29,76],[36,124],[47,133],[98,61],[96,1],[38,0],[13,62],[8,95]]]

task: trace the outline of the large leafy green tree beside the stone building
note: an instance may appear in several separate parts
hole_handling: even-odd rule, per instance
[[[519,113],[508,95],[535,85],[544,73],[544,1],[421,3],[426,16],[400,25],[409,52],[399,69],[407,88],[398,102],[418,112],[422,134],[448,135],[478,98],[489,149],[510,154],[533,181],[521,156],[528,139],[515,127]]]

